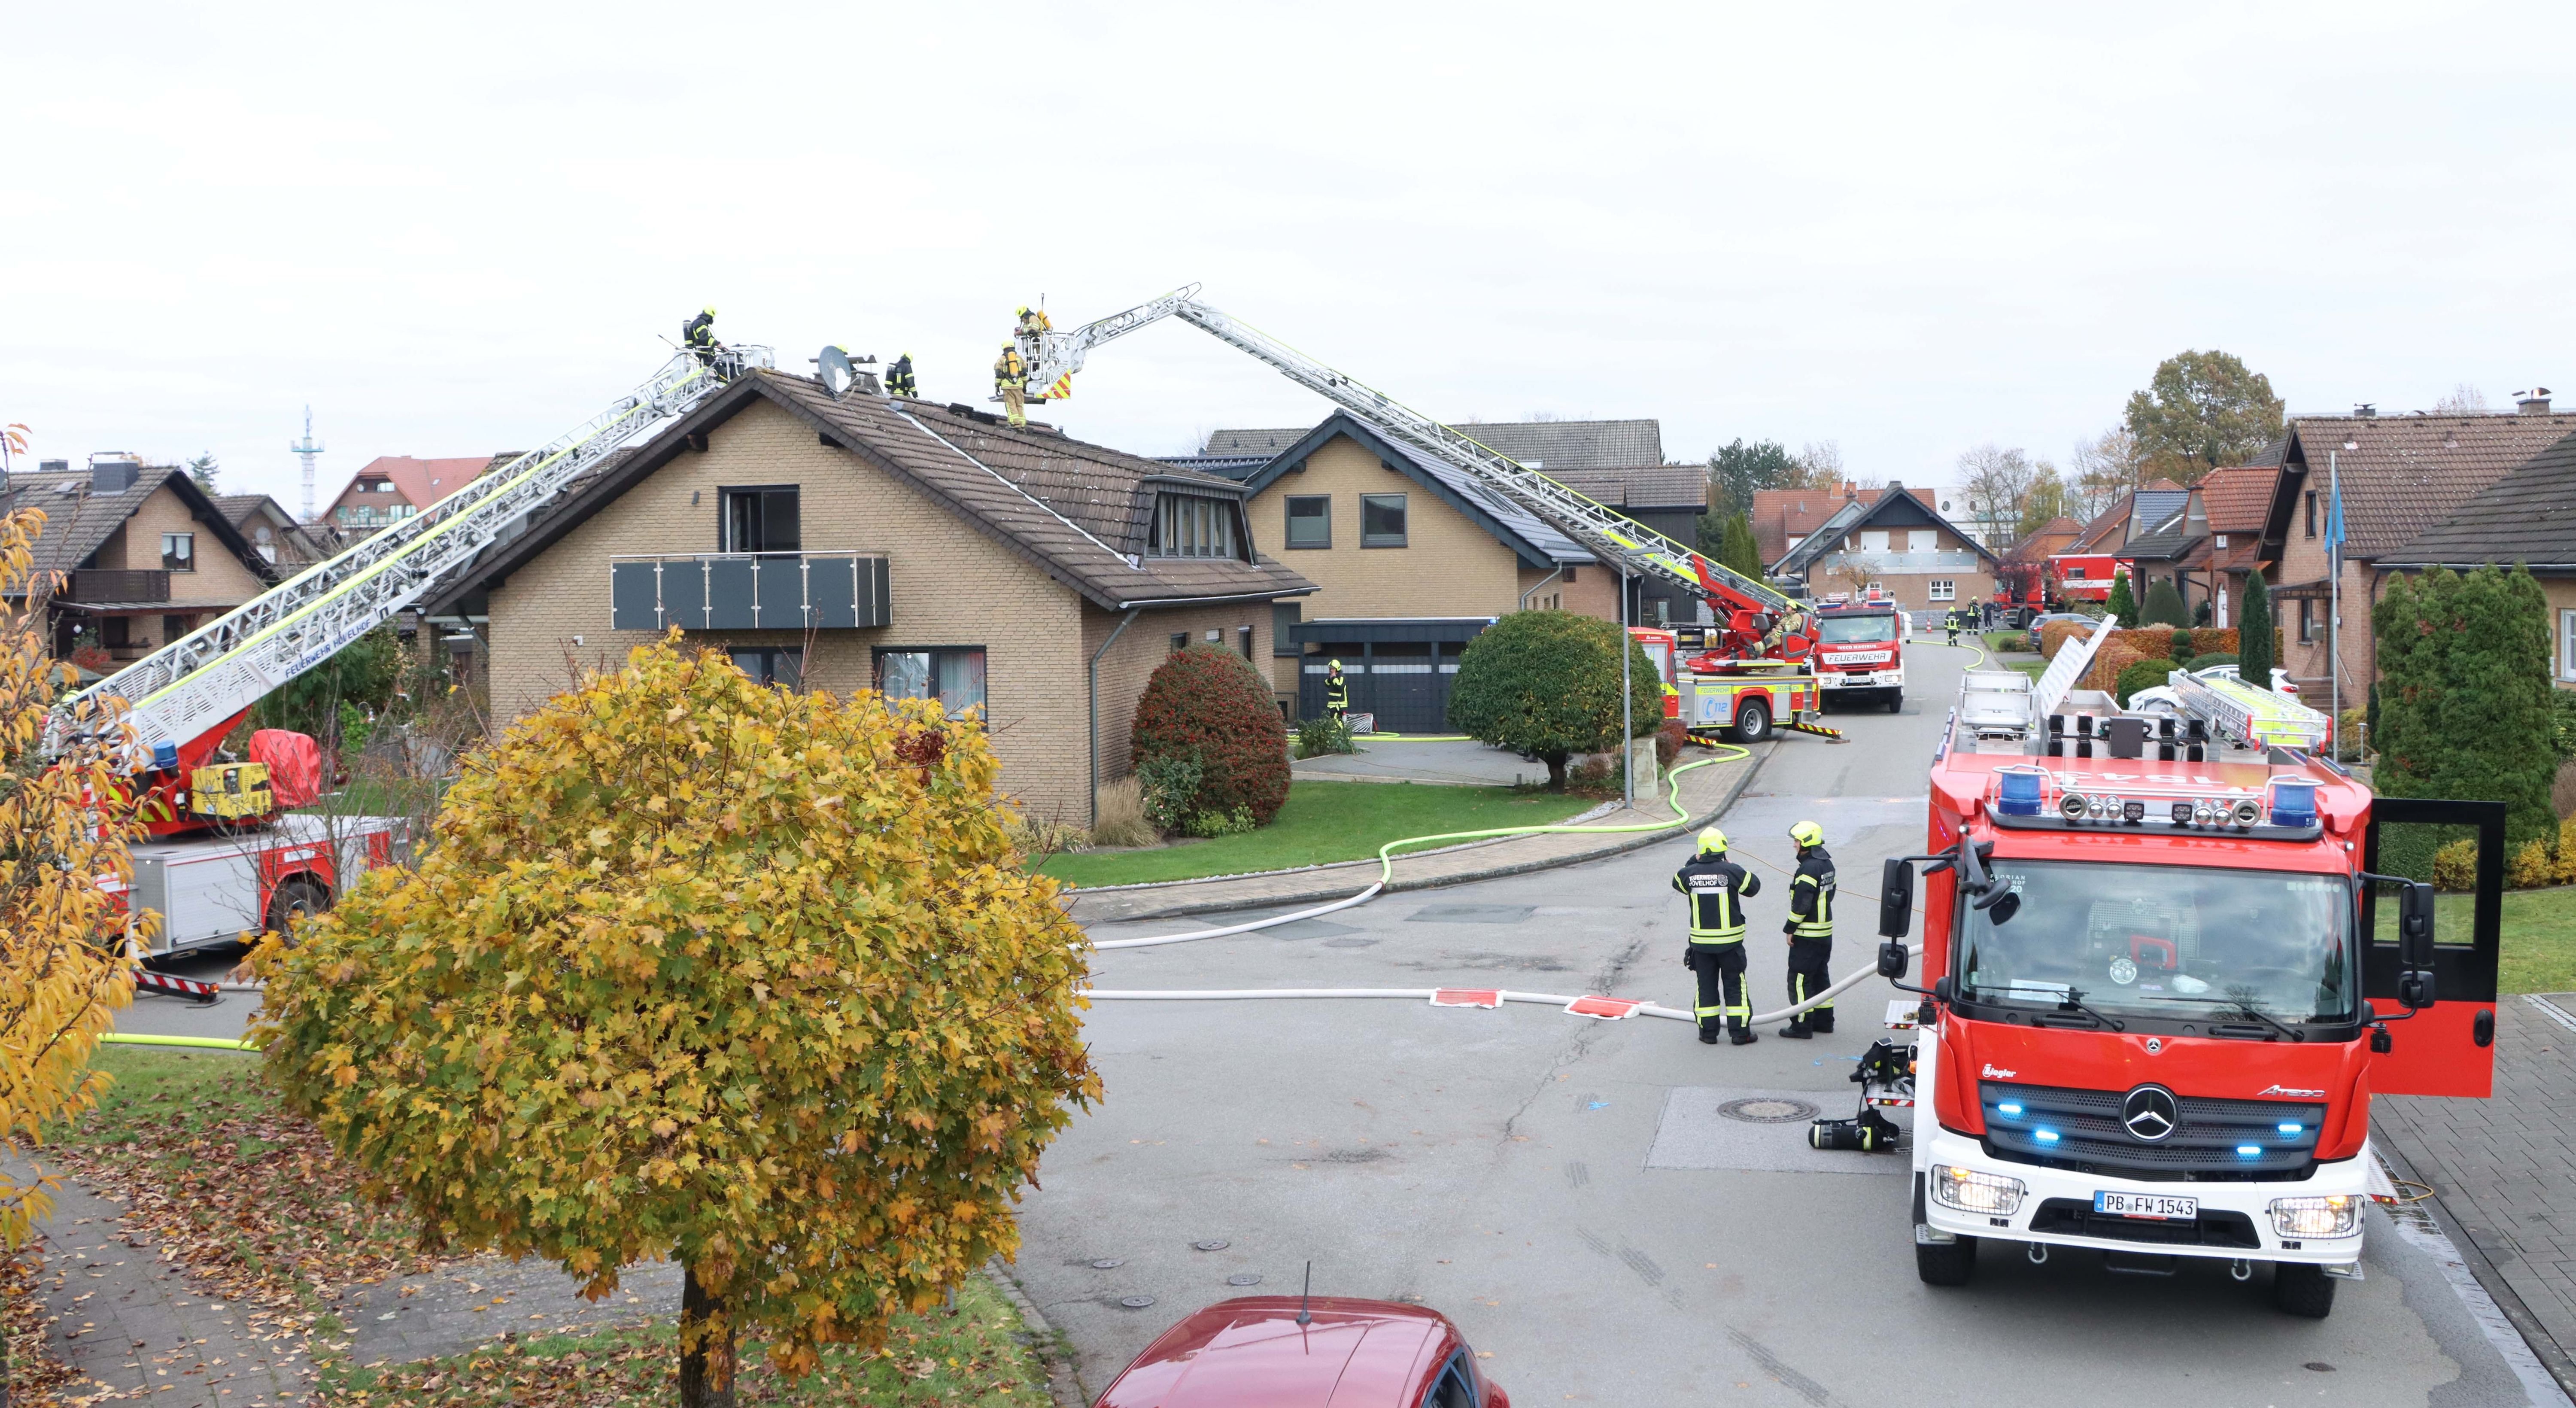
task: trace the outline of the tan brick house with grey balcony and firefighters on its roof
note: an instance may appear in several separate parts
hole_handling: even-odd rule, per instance
[[[976,709],[1025,815],[1087,823],[1182,645],[1270,660],[1316,591],[1244,487],[966,405],[752,371],[567,487],[440,588],[484,637],[495,730],[670,627],[757,681]]]

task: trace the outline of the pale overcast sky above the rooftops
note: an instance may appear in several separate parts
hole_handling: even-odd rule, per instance
[[[703,302],[989,395],[1177,284],[1432,415],[2063,464],[2182,348],[2576,397],[2555,5],[21,5],[0,423],[296,503],[541,444]],[[1072,433],[1321,402],[1164,322]]]

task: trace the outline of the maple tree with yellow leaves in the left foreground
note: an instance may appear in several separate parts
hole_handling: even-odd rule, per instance
[[[1010,1256],[1072,1104],[1082,931],[974,717],[636,650],[466,761],[415,869],[268,946],[252,1039],[425,1238],[608,1295],[677,1258],[680,1400]]]

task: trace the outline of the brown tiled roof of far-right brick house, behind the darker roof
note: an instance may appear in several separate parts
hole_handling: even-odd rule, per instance
[[[2450,518],[2463,503],[2576,431],[2553,415],[2300,415],[2290,464],[2326,505],[2329,456],[2344,490],[2344,552],[2380,557]],[[2344,446],[2352,449],[2344,449]]]

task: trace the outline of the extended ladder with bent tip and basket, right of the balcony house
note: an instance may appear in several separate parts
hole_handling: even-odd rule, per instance
[[[1095,346],[1110,338],[1123,338],[1164,317],[1180,317],[1200,333],[1265,361],[1273,371],[1340,405],[1365,425],[1383,431],[1386,436],[1445,464],[1466,469],[1476,477],[1476,482],[1522,503],[1530,513],[1538,513],[1605,562],[1615,562],[1628,572],[1662,578],[1700,596],[1739,601],[1747,609],[1770,611],[1775,616],[1795,609],[1795,603],[1770,583],[1747,578],[1723,562],[1710,562],[1680,542],[1672,542],[1664,534],[1623,518],[1613,508],[1558,485],[1538,469],[1530,469],[1507,454],[1497,454],[1476,444],[1471,436],[1406,407],[1386,392],[1370,389],[1358,379],[1291,348],[1288,343],[1260,333],[1247,322],[1226,317],[1224,312],[1198,302],[1198,284],[1175,289],[1154,302],[1136,304],[1126,312],[1115,312],[1066,333],[1020,335],[1020,358],[1028,364],[1028,384],[1066,384],[1066,376],[1082,371],[1082,358]],[[1839,738],[1832,730],[1821,730],[1821,725],[1801,732]]]

